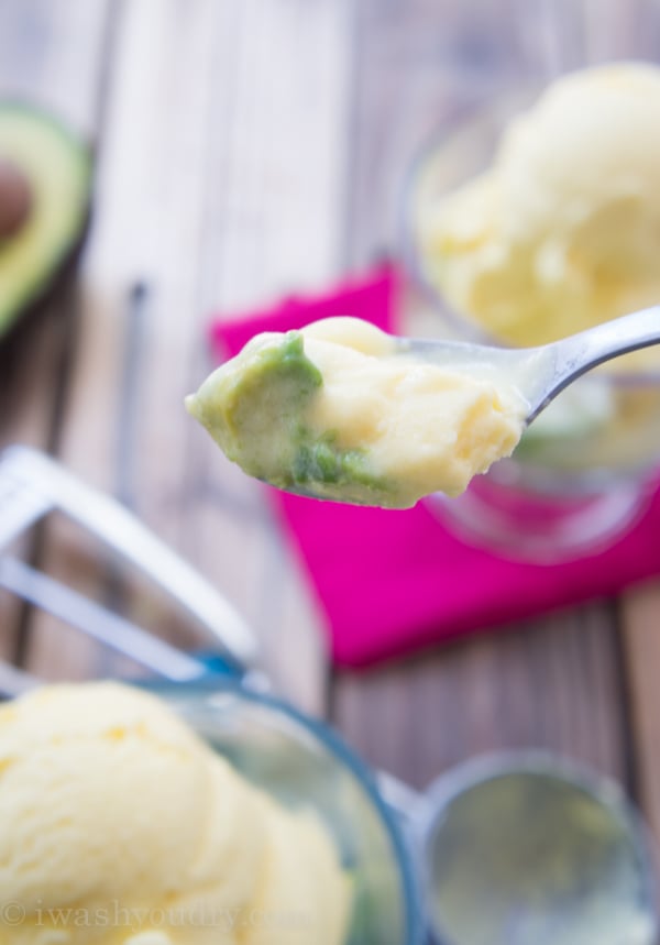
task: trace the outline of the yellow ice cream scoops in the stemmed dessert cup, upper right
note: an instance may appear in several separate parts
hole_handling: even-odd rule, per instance
[[[540,344],[660,300],[660,69],[568,75],[492,167],[419,208],[427,275],[457,310]]]

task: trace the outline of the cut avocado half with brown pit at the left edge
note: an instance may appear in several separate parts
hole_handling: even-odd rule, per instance
[[[91,151],[36,106],[0,101],[0,336],[41,300],[81,245]]]

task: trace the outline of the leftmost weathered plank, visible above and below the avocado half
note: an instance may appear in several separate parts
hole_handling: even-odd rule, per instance
[[[4,0],[0,4],[0,96],[35,101],[94,138],[109,28],[109,0],[72,4]],[[3,339],[0,349],[0,448],[53,446],[76,328],[73,278],[47,306]],[[12,548],[34,557],[33,536]],[[28,611],[0,592],[0,655],[21,656]]]

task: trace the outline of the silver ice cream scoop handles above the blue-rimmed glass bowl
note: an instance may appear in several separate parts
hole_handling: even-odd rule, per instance
[[[114,647],[161,675],[190,680],[200,663],[3,551],[52,510],[64,512],[194,616],[229,660],[250,668],[255,638],[238,611],[197,571],[114,498],[82,483],[50,457],[26,447],[0,453],[0,586]]]

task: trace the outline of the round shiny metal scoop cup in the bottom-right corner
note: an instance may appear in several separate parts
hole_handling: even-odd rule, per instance
[[[615,782],[542,751],[441,776],[422,825],[438,945],[653,945],[656,849]]]

